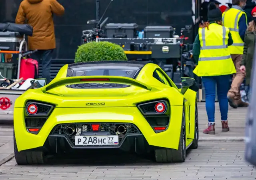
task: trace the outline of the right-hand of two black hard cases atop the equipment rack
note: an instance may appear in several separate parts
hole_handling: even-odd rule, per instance
[[[145,38],[172,38],[172,26],[146,26],[144,28]]]

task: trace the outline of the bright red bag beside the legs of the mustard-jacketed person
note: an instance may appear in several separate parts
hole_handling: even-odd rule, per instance
[[[38,61],[31,58],[22,59],[20,62],[20,78],[23,78],[23,80],[38,78]]]

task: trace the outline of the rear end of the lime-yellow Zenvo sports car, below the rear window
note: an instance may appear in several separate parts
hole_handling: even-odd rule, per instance
[[[76,149],[138,154],[178,149],[183,96],[177,90],[172,90],[176,97],[172,99],[167,98],[170,89],[159,90],[131,78],[81,77],[62,78],[18,98],[14,109],[18,164],[37,164],[42,162],[38,157]],[[34,159],[28,162],[20,156]]]

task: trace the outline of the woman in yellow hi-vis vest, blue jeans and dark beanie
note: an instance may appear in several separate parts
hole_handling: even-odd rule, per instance
[[[202,77],[206,96],[206,112],[208,128],[204,134],[215,134],[215,95],[216,85],[222,131],[229,131],[228,127],[228,98],[229,81],[231,74],[236,73],[228,46],[233,40],[230,30],[222,26],[222,12],[211,3],[208,10],[208,23],[199,28],[193,46],[193,56],[198,65],[194,74]]]

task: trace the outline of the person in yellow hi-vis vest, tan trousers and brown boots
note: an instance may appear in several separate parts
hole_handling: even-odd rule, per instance
[[[248,103],[241,100],[240,95],[240,86],[246,75],[245,72],[240,71],[244,50],[244,35],[247,29],[247,16],[243,10],[246,6],[246,0],[232,0],[232,4],[232,8],[222,14],[222,23],[229,28],[234,41],[228,49],[236,66],[236,74],[233,75],[233,81],[227,96],[230,106],[237,108],[248,106]]]

